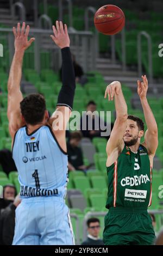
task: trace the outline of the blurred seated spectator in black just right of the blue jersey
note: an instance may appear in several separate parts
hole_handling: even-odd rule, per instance
[[[83,164],[82,149],[78,147],[81,139],[82,139],[82,133],[80,133],[79,131],[70,133],[70,141],[67,142],[69,170],[85,170],[86,169],[86,166]]]

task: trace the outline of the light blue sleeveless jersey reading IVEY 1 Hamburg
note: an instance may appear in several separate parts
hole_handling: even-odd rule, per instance
[[[52,129],[41,126],[28,135],[27,126],[16,132],[12,148],[21,198],[57,196],[65,198],[68,182],[67,154]]]

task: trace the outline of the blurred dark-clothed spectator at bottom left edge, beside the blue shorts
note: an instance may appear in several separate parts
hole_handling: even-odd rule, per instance
[[[0,216],[0,245],[12,245],[15,229],[15,210],[21,203],[18,194],[13,203],[5,208]]]

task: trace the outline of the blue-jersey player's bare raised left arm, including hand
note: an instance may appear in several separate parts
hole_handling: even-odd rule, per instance
[[[21,118],[20,102],[23,99],[20,83],[22,76],[22,62],[24,51],[32,44],[34,38],[28,41],[29,26],[26,27],[26,23],[23,22],[22,29],[20,23],[17,23],[16,28],[13,27],[15,36],[15,53],[12,59],[12,64],[9,73],[8,80],[8,119],[9,119],[9,131],[11,138],[14,138],[15,132],[24,125]]]

